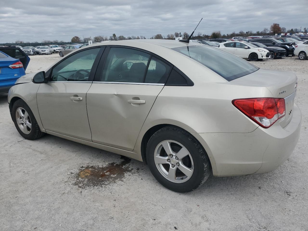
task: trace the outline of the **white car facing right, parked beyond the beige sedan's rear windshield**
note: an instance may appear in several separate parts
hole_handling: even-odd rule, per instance
[[[249,59],[250,61],[270,58],[270,52],[268,50],[246,42],[230,41],[220,43],[219,49],[237,55],[240,58]]]

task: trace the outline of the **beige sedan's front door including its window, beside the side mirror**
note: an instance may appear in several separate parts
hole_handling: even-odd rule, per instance
[[[103,48],[77,52],[51,70],[48,83],[41,83],[37,104],[47,131],[91,141],[86,106],[89,90]]]

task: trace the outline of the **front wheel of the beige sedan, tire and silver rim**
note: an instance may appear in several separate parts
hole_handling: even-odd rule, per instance
[[[27,140],[35,140],[45,135],[30,107],[22,99],[13,104],[12,119],[19,134]]]

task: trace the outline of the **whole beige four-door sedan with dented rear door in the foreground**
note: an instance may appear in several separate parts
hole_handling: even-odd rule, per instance
[[[300,133],[296,87],[292,73],[217,48],[140,39],[75,49],[18,79],[8,101],[24,138],[47,133],[144,161],[166,188],[188,192],[210,172],[285,162]]]

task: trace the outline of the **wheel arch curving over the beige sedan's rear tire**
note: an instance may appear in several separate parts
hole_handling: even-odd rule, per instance
[[[177,125],[170,124],[170,123],[156,124],[156,125],[152,126],[151,128],[149,128],[144,133],[144,135],[142,137],[142,140],[141,140],[141,144],[140,144],[140,153],[141,153],[141,157],[142,157],[142,161],[143,162],[148,164],[148,162],[146,160],[146,148],[147,148],[147,144],[148,144],[148,141],[150,140],[151,136],[155,132],[160,130],[161,128],[164,128],[164,127],[167,127],[167,126],[180,128],[181,130],[191,134],[198,141],[200,146],[203,148],[203,151],[205,151],[206,154],[208,155],[212,171],[216,171],[216,164],[215,164],[215,160],[214,160],[213,154],[212,154],[211,150],[209,149],[209,146],[206,144],[206,142],[204,140],[202,140],[201,136],[198,133],[189,132],[189,131],[187,131],[187,129],[184,129],[181,126],[177,126]]]

